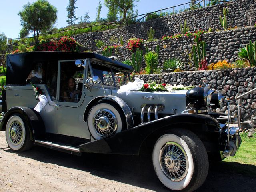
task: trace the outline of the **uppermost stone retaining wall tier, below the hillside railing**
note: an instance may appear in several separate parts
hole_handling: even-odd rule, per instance
[[[123,36],[125,42],[132,37],[147,39],[147,31],[150,27],[156,31],[156,39],[161,39],[164,35],[178,34],[180,33],[180,24],[183,24],[185,19],[192,32],[198,29],[208,30],[209,27],[213,30],[222,30],[219,15],[223,16],[222,10],[224,7],[229,8],[228,26],[254,25],[256,21],[255,0],[233,0],[228,3],[182,12],[118,29],[79,34],[73,37],[89,50],[96,50],[95,40],[102,40],[106,44],[110,44],[109,40],[112,36],[118,39]]]

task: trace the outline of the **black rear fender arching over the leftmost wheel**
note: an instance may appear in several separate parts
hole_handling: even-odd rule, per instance
[[[45,126],[40,114],[32,108],[28,107],[12,107],[6,114],[0,124],[0,130],[4,131],[6,123],[10,116],[14,113],[21,114],[28,123],[30,130],[30,140],[44,140],[45,139]]]

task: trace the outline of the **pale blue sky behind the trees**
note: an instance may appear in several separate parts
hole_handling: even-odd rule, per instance
[[[23,6],[28,2],[32,3],[36,0],[0,0],[0,33],[4,33],[7,38],[19,38],[20,16],[18,12],[23,9]],[[55,6],[58,10],[58,19],[55,27],[61,28],[68,26],[67,11],[69,0],[48,0],[50,4]],[[168,8],[190,2],[190,0],[140,0],[135,2],[136,7],[134,10],[138,10],[138,14],[145,14],[156,10]],[[94,21],[96,18],[96,7],[98,6],[99,0],[77,0],[75,6],[78,7],[75,11],[76,17],[84,16],[86,12],[89,12],[90,21]],[[104,0],[101,0],[102,9],[100,13],[101,18],[106,18],[108,14],[108,8],[104,6]],[[181,6],[180,8],[184,8]],[[179,8],[178,8],[179,9]],[[76,21],[78,23],[79,20]]]

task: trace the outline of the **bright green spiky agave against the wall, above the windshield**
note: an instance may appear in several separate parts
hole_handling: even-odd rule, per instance
[[[146,63],[146,72],[149,74],[153,74],[157,70],[158,54],[152,51],[147,52],[144,55],[144,60]]]

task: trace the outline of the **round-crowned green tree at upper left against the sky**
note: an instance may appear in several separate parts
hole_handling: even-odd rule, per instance
[[[18,13],[24,28],[22,30],[33,32],[34,40],[38,44],[40,32],[52,28],[57,20],[57,12],[57,8],[46,0],[37,0],[32,4],[28,2],[23,6],[23,10]]]

